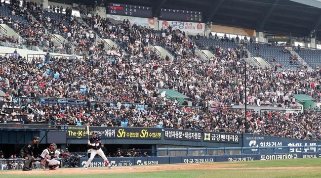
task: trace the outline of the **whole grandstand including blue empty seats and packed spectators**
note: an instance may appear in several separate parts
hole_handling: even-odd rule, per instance
[[[125,19],[115,23],[100,15],[83,15],[84,10],[75,17],[68,9],[44,10],[40,3],[19,2],[10,0],[0,6],[1,23],[21,36],[16,39],[0,31],[0,45],[16,48],[14,53],[0,55],[5,93],[1,123],[157,127],[321,139],[319,51],[297,46],[288,50],[249,36],[192,35],[171,27],[155,30]],[[65,41],[50,34],[59,34]],[[116,45],[108,46],[102,39]],[[172,57],[161,56],[153,45],[162,46]],[[47,54],[21,56],[23,47]],[[214,55],[204,58],[197,48]],[[265,58],[269,65],[249,62],[248,53]],[[166,97],[161,89],[175,90],[186,98]],[[316,105],[286,112],[297,108],[297,94],[314,98]],[[247,109],[245,114],[245,104],[269,109]]]

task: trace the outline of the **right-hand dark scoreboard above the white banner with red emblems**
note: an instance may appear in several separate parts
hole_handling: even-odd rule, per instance
[[[161,8],[159,19],[184,21],[184,22],[202,22],[203,14],[202,12],[193,11],[193,10],[177,10],[177,9]]]

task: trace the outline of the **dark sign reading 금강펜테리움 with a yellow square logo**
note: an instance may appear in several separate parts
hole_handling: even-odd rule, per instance
[[[239,143],[240,134],[204,132],[204,142]]]

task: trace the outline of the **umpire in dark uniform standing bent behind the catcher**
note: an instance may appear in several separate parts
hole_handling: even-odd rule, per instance
[[[34,153],[32,152],[35,148],[35,144],[40,142],[40,137],[34,136],[33,140],[28,142],[23,148],[20,150],[20,155],[24,158],[25,164],[23,165],[22,171],[31,171],[32,163],[35,160]]]

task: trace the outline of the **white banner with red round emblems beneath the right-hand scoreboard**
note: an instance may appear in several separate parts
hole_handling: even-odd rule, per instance
[[[205,25],[204,23],[196,23],[196,22],[178,22],[178,21],[168,21],[168,20],[160,20],[159,28],[167,29],[169,25],[172,29],[179,29],[180,31],[185,31],[188,33],[200,34],[201,36],[204,33]]]

